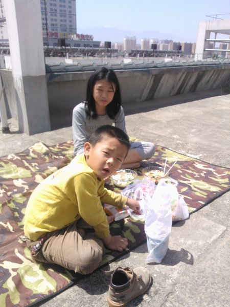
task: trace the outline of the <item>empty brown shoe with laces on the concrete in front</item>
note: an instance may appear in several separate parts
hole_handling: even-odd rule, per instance
[[[151,274],[146,268],[121,268],[113,271],[108,290],[110,307],[123,307],[134,297],[143,294],[150,286]]]

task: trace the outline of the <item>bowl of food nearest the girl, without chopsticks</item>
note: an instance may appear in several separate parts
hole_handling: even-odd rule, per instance
[[[117,187],[125,188],[129,184],[133,183],[136,177],[137,177],[136,171],[128,168],[123,168],[119,169],[116,173],[112,174],[110,176],[110,179],[112,183]]]

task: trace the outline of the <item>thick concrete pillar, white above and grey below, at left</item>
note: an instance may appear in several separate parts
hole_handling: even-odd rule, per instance
[[[51,129],[39,0],[5,1],[19,130]]]

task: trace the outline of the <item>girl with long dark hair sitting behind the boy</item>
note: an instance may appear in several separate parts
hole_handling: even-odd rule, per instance
[[[113,123],[127,134],[118,78],[113,70],[102,67],[89,77],[85,102],[79,103],[73,110],[75,155],[84,152],[84,143],[94,130],[99,126]],[[130,150],[121,167],[139,167],[141,161],[150,159],[154,152],[153,143],[131,142]]]

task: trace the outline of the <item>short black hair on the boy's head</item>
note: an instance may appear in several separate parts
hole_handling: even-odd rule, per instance
[[[104,136],[108,136],[110,138],[116,138],[120,143],[124,144],[127,147],[127,152],[130,149],[130,141],[127,134],[118,127],[103,125],[97,128],[93,134],[91,134],[88,142],[95,146],[99,143]]]

